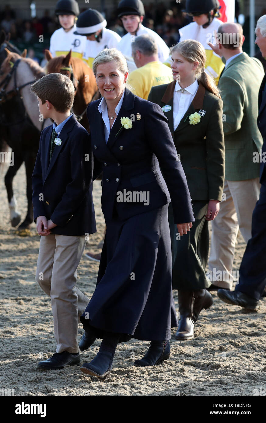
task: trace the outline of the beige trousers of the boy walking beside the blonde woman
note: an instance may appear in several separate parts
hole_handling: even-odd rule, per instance
[[[80,351],[78,323],[89,299],[75,285],[85,245],[85,236],[41,236],[36,281],[51,297],[56,352]]]

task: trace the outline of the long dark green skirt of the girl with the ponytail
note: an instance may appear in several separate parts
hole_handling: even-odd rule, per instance
[[[169,204],[168,220],[172,247],[173,289],[199,290],[211,285],[205,273],[209,251],[208,221],[205,217],[207,210],[208,202],[194,200],[195,222],[193,222],[193,226],[187,234],[178,237],[176,235],[177,227],[173,221],[173,208],[171,203]]]

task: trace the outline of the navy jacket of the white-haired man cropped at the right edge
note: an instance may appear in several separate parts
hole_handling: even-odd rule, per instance
[[[266,156],[266,93],[263,96],[263,90],[266,89],[266,75],[261,82],[259,91],[259,114],[257,119],[258,129],[261,131],[263,137],[262,153]],[[263,156],[261,157],[263,159]],[[265,159],[264,159],[265,160]],[[265,163],[260,163],[260,183],[266,185],[266,169]]]

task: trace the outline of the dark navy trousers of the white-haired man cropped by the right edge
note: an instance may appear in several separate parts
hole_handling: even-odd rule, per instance
[[[239,268],[239,283],[235,291],[259,300],[266,286],[266,186],[261,185],[260,197],[252,214],[251,238],[247,243]]]

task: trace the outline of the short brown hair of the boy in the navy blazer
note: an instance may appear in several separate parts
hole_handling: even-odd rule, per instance
[[[31,85],[30,91],[35,93],[41,103],[48,100],[59,113],[70,110],[74,103],[75,89],[73,82],[66,75],[47,74]]]

